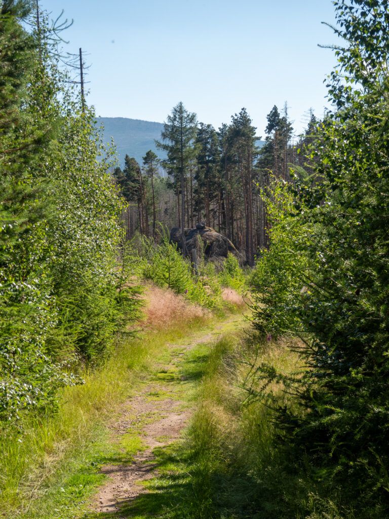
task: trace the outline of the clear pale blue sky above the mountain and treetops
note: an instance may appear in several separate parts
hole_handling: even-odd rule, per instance
[[[88,52],[96,114],[162,122],[178,101],[200,121],[229,122],[245,106],[258,135],[285,101],[297,132],[326,106],[335,65],[331,0],[40,0],[74,19],[66,50]]]

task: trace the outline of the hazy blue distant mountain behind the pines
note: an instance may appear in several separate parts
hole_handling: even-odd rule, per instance
[[[104,142],[109,143],[114,139],[119,164],[124,165],[124,157],[129,155],[142,166],[142,157],[149,149],[152,149],[160,158],[165,158],[165,153],[157,149],[155,140],[160,140],[163,129],[162,122],[142,121],[127,117],[98,117],[98,125],[104,124]],[[261,147],[264,141],[257,140],[257,146]]]

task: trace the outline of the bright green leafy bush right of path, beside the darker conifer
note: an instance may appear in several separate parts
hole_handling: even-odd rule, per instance
[[[313,266],[303,250],[311,228],[298,217],[293,195],[284,182],[273,179],[263,197],[267,202],[271,247],[261,251],[250,279],[254,287],[255,326],[263,335],[274,337],[302,333],[295,306],[309,290]]]

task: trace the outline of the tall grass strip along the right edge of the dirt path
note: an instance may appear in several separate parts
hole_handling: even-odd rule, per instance
[[[243,387],[262,362],[284,373],[299,369],[297,354],[285,342],[258,347],[253,338],[230,335],[210,353],[186,447],[197,499],[193,517],[299,517],[306,488],[288,472],[276,447],[280,431],[274,429],[266,399],[247,400]],[[291,398],[278,383],[266,391],[280,401]]]

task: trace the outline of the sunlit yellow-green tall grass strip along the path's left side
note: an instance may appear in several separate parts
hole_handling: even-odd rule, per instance
[[[195,312],[186,315],[185,326],[175,316],[165,329],[158,327],[158,334],[151,330],[137,339],[122,340],[100,370],[82,374],[84,385],[63,391],[57,413],[25,420],[23,432],[3,430],[0,516],[23,515],[31,503],[44,497],[74,460],[84,457],[106,435],[106,423],[168,344],[209,323],[203,313]]]

